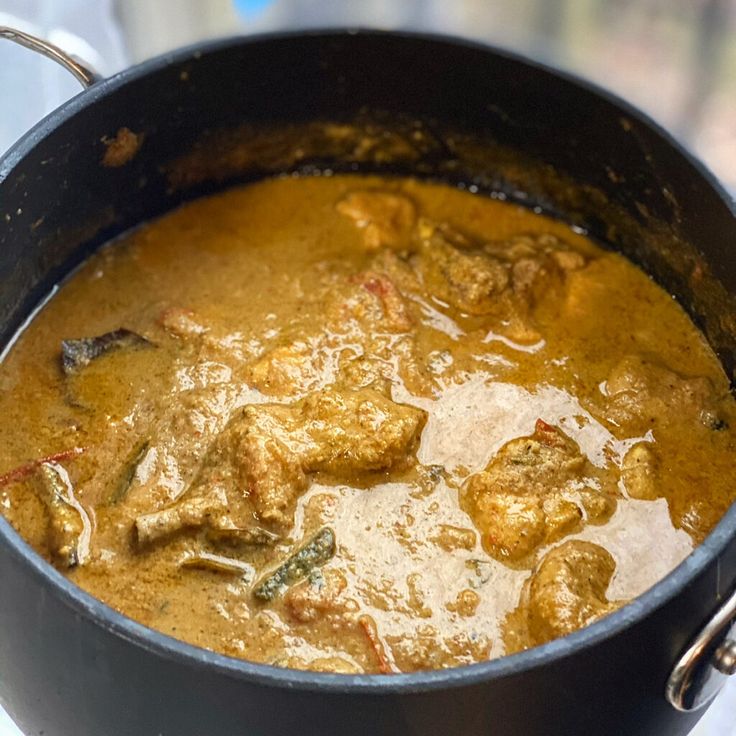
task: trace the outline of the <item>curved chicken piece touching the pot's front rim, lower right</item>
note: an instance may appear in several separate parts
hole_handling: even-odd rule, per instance
[[[611,554],[591,542],[572,540],[548,552],[522,594],[531,642],[570,634],[623,605],[606,597],[615,570]]]

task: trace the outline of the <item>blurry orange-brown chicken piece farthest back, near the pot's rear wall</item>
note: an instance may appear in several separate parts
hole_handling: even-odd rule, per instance
[[[371,189],[350,192],[335,207],[363,231],[363,242],[369,250],[408,244],[416,221],[412,201],[392,192]]]

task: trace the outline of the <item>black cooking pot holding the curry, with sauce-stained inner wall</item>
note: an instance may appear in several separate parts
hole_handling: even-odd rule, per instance
[[[325,120],[369,131],[375,146],[317,135],[297,151],[309,123]],[[140,149],[101,165],[103,139],[122,127],[142,134]],[[221,130],[231,132],[201,142]],[[396,140],[416,146],[386,154]],[[233,146],[238,155],[224,153]],[[732,375],[736,217],[699,164],[640,113],[565,75],[469,43],[374,32],[185,49],[94,84],[28,133],[0,162],[2,344],[100,243],[202,192],[289,168],[413,172],[587,227],[676,295]],[[678,736],[698,713],[668,702],[668,678],[735,584],[732,507],[667,578],[564,639],[447,671],[329,675],[231,659],[134,623],[0,520],[0,702],[46,736]],[[723,639],[730,609],[721,615],[696,654]],[[701,680],[673,682],[681,707],[697,703]]]

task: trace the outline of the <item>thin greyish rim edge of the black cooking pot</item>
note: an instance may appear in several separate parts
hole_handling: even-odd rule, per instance
[[[78,112],[88,105],[113,94],[128,83],[150,73],[167,67],[175,67],[184,62],[198,62],[208,54],[236,46],[263,45],[267,48],[273,41],[288,41],[304,37],[338,40],[355,35],[392,37],[397,41],[409,39],[433,45],[465,47],[488,54],[491,57],[497,56],[519,65],[531,67],[601,97],[663,139],[670,148],[680,155],[683,163],[689,164],[707,181],[729,211],[736,217],[736,202],[731,199],[712,172],[701,161],[690,154],[670,133],[648,115],[608,90],[569,72],[555,69],[521,54],[480,41],[435,33],[383,31],[371,28],[327,28],[231,36],[185,46],[124,69],[81,91],[49,113],[23,135],[4,156],[0,157],[0,185],[12,175],[15,166],[40,141],[71,120]],[[616,636],[619,632],[637,624],[665,605],[677,596],[681,589],[698,577],[714,559],[718,558],[734,538],[736,538],[736,502],[731,505],[706,539],[674,570],[647,591],[605,618],[579,631],[533,649],[447,670],[428,670],[391,675],[342,675],[286,669],[237,659],[187,644],[139,624],[102,603],[102,601],[64,577],[28,545],[0,514],[0,550],[5,548],[3,551],[9,552],[21,565],[26,567],[30,574],[39,582],[45,584],[75,614],[90,620],[111,634],[164,659],[194,668],[208,668],[233,679],[248,680],[266,687],[335,694],[392,695],[395,693],[464,687],[512,675],[520,675],[537,666],[562,660]]]

